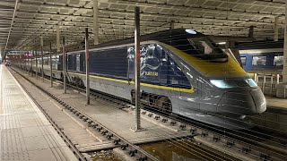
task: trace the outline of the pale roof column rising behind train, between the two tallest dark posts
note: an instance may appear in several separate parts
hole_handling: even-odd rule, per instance
[[[99,12],[98,0],[92,0],[93,6],[93,45],[99,44]]]

